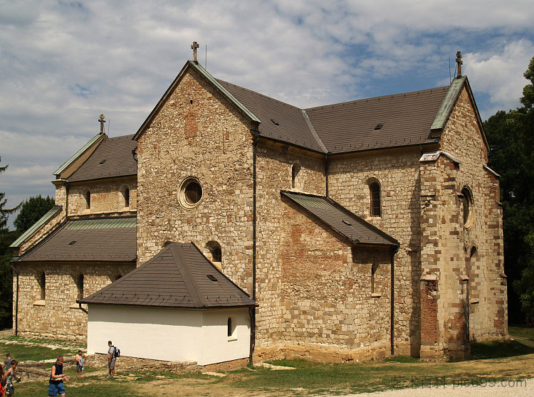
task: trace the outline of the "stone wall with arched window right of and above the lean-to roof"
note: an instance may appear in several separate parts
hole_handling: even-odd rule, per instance
[[[330,197],[400,243],[394,256],[395,351],[419,354],[419,148],[332,157]],[[370,183],[381,187],[381,216],[370,216]]]

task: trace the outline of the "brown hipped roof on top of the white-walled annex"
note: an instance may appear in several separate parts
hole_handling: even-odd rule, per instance
[[[154,258],[81,302],[192,309],[255,305],[193,243],[169,243]]]

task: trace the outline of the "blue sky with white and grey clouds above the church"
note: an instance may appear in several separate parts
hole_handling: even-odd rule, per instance
[[[211,75],[298,107],[448,85],[461,51],[486,120],[520,105],[533,21],[532,0],[0,0],[0,191],[53,196],[101,113],[135,133],[192,41]]]

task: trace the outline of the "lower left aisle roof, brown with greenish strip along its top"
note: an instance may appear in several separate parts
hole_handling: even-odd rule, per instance
[[[135,217],[67,221],[19,262],[137,260]]]

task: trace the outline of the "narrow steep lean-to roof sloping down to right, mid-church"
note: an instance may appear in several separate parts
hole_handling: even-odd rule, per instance
[[[337,233],[351,240],[352,243],[399,245],[397,240],[336,203],[332,198],[292,191],[281,191],[281,195],[286,196],[309,213],[312,213]]]

